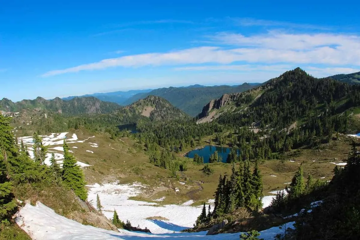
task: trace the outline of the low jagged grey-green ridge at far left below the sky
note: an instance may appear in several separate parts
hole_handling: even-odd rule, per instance
[[[34,100],[22,100],[16,103],[6,98],[0,100],[0,110],[4,110],[5,112],[20,112],[24,109],[35,109],[58,112],[66,116],[75,116],[87,113],[109,113],[119,108],[120,105],[116,103],[100,101],[94,97],[73,98],[68,101],[60,98],[46,100],[37,97]]]

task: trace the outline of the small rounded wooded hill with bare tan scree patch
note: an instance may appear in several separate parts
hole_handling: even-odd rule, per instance
[[[149,117],[155,121],[171,121],[177,118],[189,118],[186,113],[174,107],[167,100],[153,95],[140,99],[126,106],[126,108],[134,109],[139,115]]]

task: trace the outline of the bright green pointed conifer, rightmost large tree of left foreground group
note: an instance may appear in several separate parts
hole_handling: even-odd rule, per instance
[[[85,188],[85,176],[80,166],[76,164],[75,157],[70,154],[69,147],[64,140],[64,162],[62,178],[66,186],[71,188],[75,194],[83,201],[87,198]]]

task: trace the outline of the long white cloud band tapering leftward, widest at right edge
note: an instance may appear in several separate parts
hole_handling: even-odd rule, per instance
[[[349,68],[349,66],[356,68],[360,66],[360,36],[354,34],[296,34],[269,31],[265,34],[244,36],[238,33],[220,32],[211,36],[211,40],[216,46],[103,59],[95,63],[49,71],[42,76],[48,77],[118,66],[176,66],[207,63],[224,65],[236,62],[262,65],[325,64],[334,68]]]

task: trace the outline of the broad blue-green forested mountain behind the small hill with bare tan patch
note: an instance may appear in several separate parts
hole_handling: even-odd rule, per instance
[[[131,104],[149,95],[159,96],[168,100],[175,107],[183,110],[190,116],[195,116],[201,108],[211,99],[220,98],[221,95],[232,92],[243,92],[257,86],[258,83],[243,83],[237,86],[199,86],[168,87],[155,89],[151,92],[140,93],[129,98],[125,103]]]

